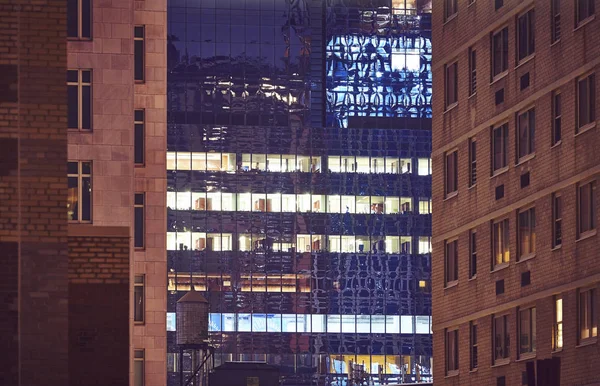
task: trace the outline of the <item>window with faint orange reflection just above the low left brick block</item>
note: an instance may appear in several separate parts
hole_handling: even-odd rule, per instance
[[[70,161],[67,172],[69,221],[90,222],[92,221],[92,163]]]

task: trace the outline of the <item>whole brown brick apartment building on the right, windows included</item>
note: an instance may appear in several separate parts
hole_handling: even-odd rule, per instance
[[[600,382],[597,12],[433,1],[436,384]]]

